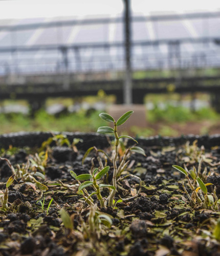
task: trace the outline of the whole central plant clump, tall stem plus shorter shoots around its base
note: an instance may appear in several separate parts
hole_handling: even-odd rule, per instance
[[[115,194],[116,194],[116,190],[117,190],[117,180],[122,181],[125,178],[125,177],[120,178],[120,176],[121,176],[122,172],[125,170],[128,162],[129,162],[129,161],[127,161],[127,158],[130,156],[130,153],[135,152],[135,153],[139,153],[139,154],[142,154],[142,155],[146,156],[145,152],[143,151],[143,149],[141,147],[138,147],[138,146],[129,147],[124,152],[124,155],[122,156],[122,160],[119,164],[119,167],[117,167],[117,161],[118,161],[118,157],[119,157],[119,140],[122,139],[122,138],[128,138],[128,139],[131,139],[131,140],[135,141],[136,143],[138,143],[134,138],[132,138],[130,136],[120,136],[119,137],[118,132],[117,132],[117,127],[119,125],[122,125],[130,117],[130,115],[133,112],[134,111],[126,112],[117,121],[115,121],[115,119],[112,116],[110,116],[106,113],[99,114],[100,118],[102,118],[103,120],[114,123],[114,129],[112,127],[109,127],[109,126],[101,126],[101,127],[98,128],[98,131],[97,131],[98,133],[103,133],[103,134],[114,133],[114,135],[115,135],[115,148],[114,148],[113,160],[111,160],[104,151],[97,150],[97,148],[95,146],[90,147],[89,150],[87,150],[85,152],[85,154],[82,158],[82,164],[83,164],[85,158],[90,154],[90,152],[95,150],[96,157],[97,157],[97,160],[99,162],[99,168],[94,167],[94,162],[93,162],[94,158],[93,158],[90,174],[82,174],[82,175],[77,176],[73,172],[73,170],[70,171],[70,174],[72,175],[72,177],[78,181],[78,184],[79,184],[78,193],[81,193],[83,195],[85,201],[89,204],[93,204],[92,196],[96,195],[99,202],[100,202],[101,207],[105,207],[106,204],[107,204],[107,201],[108,201],[108,206],[113,207],[114,206],[113,204],[114,204],[114,201],[115,201],[114,198],[115,198]],[[102,156],[104,156],[105,165],[103,165],[102,159],[101,159],[99,154],[102,154]],[[103,182],[101,184],[97,183],[97,181],[99,182],[99,180],[101,180],[101,178],[104,177],[105,174],[106,175],[108,174],[108,170],[109,170],[110,167],[107,166],[107,158],[111,162],[113,162],[113,168],[114,168],[114,170],[113,170],[113,185],[103,184]],[[142,184],[141,184],[140,178],[138,178],[137,176],[129,174],[129,175],[126,175],[126,178],[129,177],[129,176],[136,177],[139,180],[140,188],[139,188],[139,191],[138,191],[137,195],[134,196],[134,197],[129,198],[129,199],[134,199],[134,198],[138,197],[138,195],[140,194]],[[88,181],[85,181],[81,184],[80,183],[81,180],[83,180],[83,181],[88,180]],[[85,189],[86,187],[89,187],[89,186],[92,186],[95,189],[95,192],[93,192],[91,195]],[[101,193],[100,193],[100,188],[104,188],[104,187],[107,187],[109,189],[109,196],[106,199],[104,199],[102,197]],[[129,200],[129,199],[127,199],[127,200]],[[120,199],[120,200],[125,201],[125,199]]]

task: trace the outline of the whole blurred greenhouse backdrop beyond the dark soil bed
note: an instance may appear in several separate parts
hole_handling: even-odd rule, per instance
[[[219,133],[219,27],[213,0],[1,1],[0,133],[96,132],[124,106],[125,133]]]

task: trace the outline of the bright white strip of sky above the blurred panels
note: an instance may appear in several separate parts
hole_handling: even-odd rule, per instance
[[[209,0],[131,0],[133,12],[220,11],[220,1]],[[0,18],[116,15],[123,0],[11,0],[0,1]]]

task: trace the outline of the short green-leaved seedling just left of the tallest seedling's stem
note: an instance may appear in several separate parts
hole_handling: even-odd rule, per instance
[[[100,193],[100,188],[104,188],[104,187],[108,187],[111,188],[113,190],[115,190],[115,187],[112,185],[107,185],[107,184],[97,184],[97,181],[100,180],[105,174],[108,173],[109,170],[109,166],[105,166],[100,172],[98,172],[98,168],[94,169],[94,163],[93,163],[94,158],[92,159],[92,168],[91,168],[91,174],[81,174],[81,175],[76,175],[73,170],[70,171],[71,176],[76,179],[77,181],[84,181],[84,180],[88,180],[85,181],[83,183],[79,183],[79,189],[78,189],[78,193],[83,192],[83,196],[84,194],[87,196],[87,198],[84,196],[85,201],[91,202],[91,197],[93,195],[96,195],[101,207],[104,207],[104,199],[101,196]],[[93,192],[91,195],[89,195],[89,193],[87,193],[87,191],[85,191],[86,187],[89,186],[93,186],[93,188],[95,189],[95,192]]]

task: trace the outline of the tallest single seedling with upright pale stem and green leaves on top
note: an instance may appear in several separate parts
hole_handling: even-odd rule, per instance
[[[118,136],[118,131],[117,131],[118,126],[120,126],[124,122],[126,122],[126,120],[133,113],[134,113],[134,111],[128,111],[124,115],[122,115],[117,121],[111,115],[108,115],[107,113],[99,114],[100,118],[102,118],[103,120],[105,120],[107,122],[114,123],[114,129],[112,127],[109,127],[109,126],[101,126],[101,127],[98,128],[98,131],[97,131],[98,133],[102,133],[102,134],[114,133],[114,136],[115,136],[115,154],[114,154],[114,158],[113,158],[113,167],[114,167],[113,186],[115,187],[115,189],[113,189],[111,191],[111,194],[110,194],[109,199],[108,199],[108,206],[110,206],[110,207],[113,207],[113,200],[114,200],[116,190],[117,190],[117,177],[119,177],[121,175],[121,173],[123,172],[123,169],[126,167],[126,159],[127,159],[127,155],[128,155],[128,152],[129,152],[129,151],[127,151],[125,153],[125,157],[123,158],[122,163],[121,163],[121,165],[119,165],[119,169],[118,169],[117,168],[117,158],[118,158],[118,150],[119,150],[119,148],[118,148],[119,147],[119,140],[121,138],[128,138],[128,139],[131,139],[131,140],[135,141],[136,143],[138,143],[137,140],[135,140],[134,138],[132,138],[130,136],[123,135],[123,136],[119,137]],[[138,148],[137,147],[135,149],[133,148],[133,151],[137,151]]]

